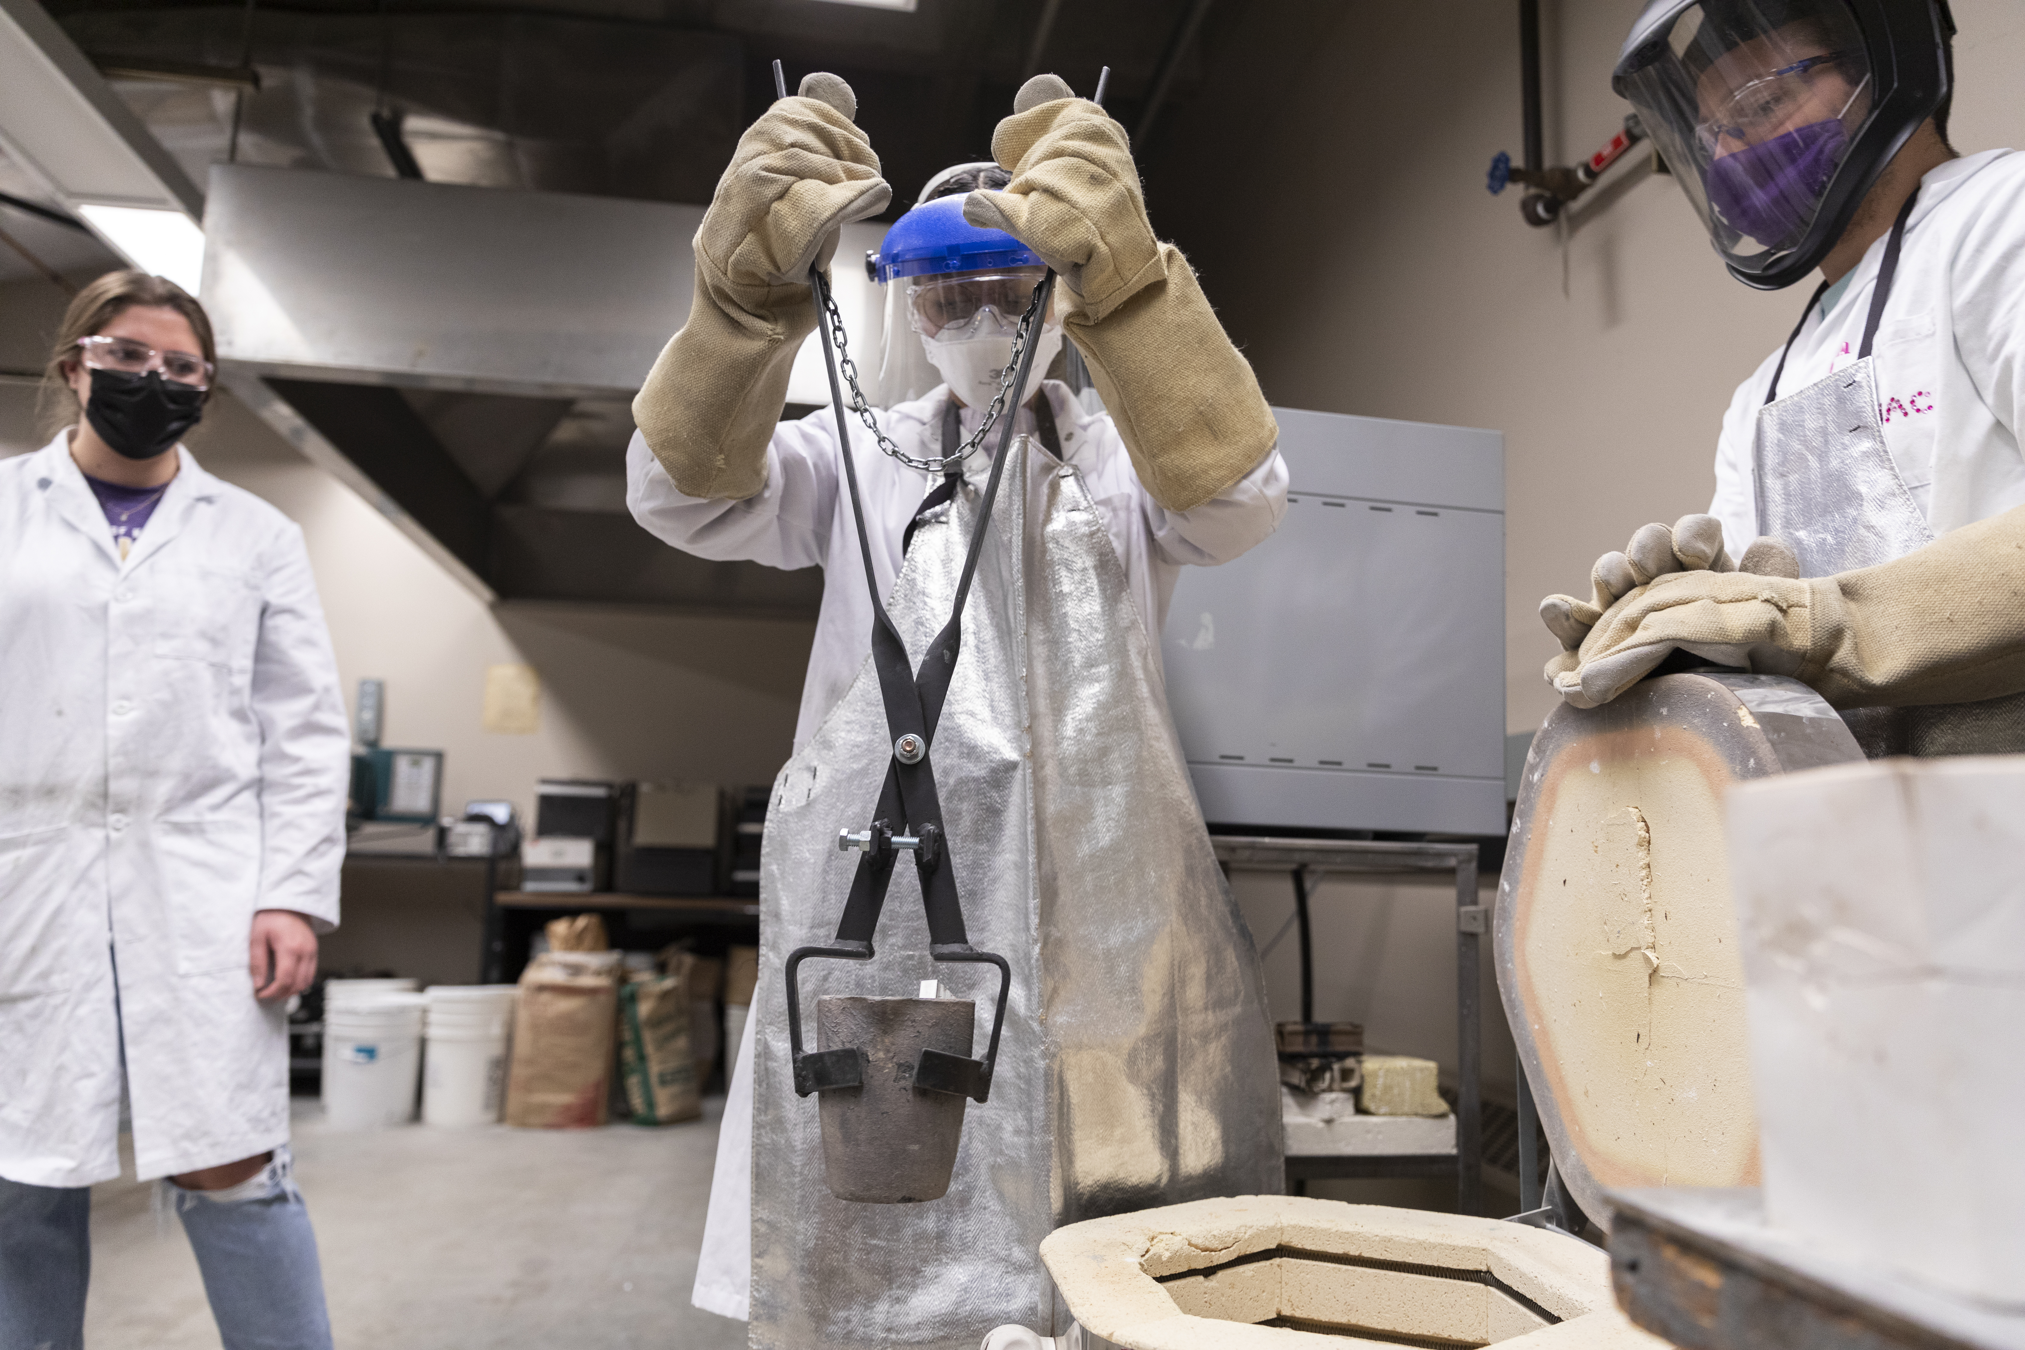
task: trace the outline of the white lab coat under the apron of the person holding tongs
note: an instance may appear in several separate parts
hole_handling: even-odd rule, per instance
[[[1051,381],[1043,391],[1055,409],[1063,459],[1081,472],[1089,496],[1104,514],[1112,546],[1118,549],[1126,569],[1132,603],[1146,621],[1148,648],[1158,660],[1160,625],[1174,595],[1177,575],[1185,565],[1229,563],[1280,526],[1280,516],[1286,514],[1286,463],[1280,451],[1272,449],[1249,474],[1209,502],[1187,512],[1166,510],[1140,486],[1110,415],[1085,413],[1065,385]],[[875,413],[875,419],[905,453],[915,457],[942,453],[946,399],[948,389],[936,387],[913,403]],[[964,409],[966,437],[980,417],[980,409]],[[1015,431],[1033,429],[1033,411],[1023,407]],[[873,575],[879,593],[891,595],[905,557],[903,530],[938,480],[881,453],[859,423],[853,423],[850,447],[865,496]],[[996,449],[998,431],[992,429],[984,449],[966,463],[970,482],[982,484],[990,472],[986,451]],[[782,423],[774,431],[767,443],[765,490],[743,502],[678,492],[638,431],[626,449],[626,502],[634,520],[676,549],[705,559],[747,559],[770,567],[834,567],[834,573],[824,577],[816,644],[802,684],[802,719],[794,733],[796,749],[816,735],[871,652],[871,595],[865,587],[857,524],[850,518],[850,496],[840,470],[836,417],[828,409]],[[741,1320],[749,1316],[751,1297],[751,1054],[753,1020],[747,1018],[745,1038],[733,1052],[731,1091],[719,1129],[711,1208],[693,1293],[697,1307]]]

